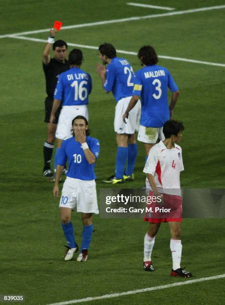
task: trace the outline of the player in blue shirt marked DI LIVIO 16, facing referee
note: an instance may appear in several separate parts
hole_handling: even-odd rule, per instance
[[[54,101],[50,116],[50,123],[54,123],[55,113],[62,101],[58,126],[55,137],[57,138],[57,149],[55,153],[55,169],[57,165],[57,153],[62,141],[71,137],[71,122],[78,115],[88,120],[88,95],[92,90],[90,74],[80,69],[83,61],[82,51],[73,49],[68,58],[70,69],[61,73],[55,88]],[[54,179],[53,179],[54,180]]]

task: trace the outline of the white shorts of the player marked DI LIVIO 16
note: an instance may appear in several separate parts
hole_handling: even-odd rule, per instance
[[[88,120],[87,105],[62,106],[55,133],[57,139],[66,140],[72,137],[72,120],[76,116],[83,116]]]

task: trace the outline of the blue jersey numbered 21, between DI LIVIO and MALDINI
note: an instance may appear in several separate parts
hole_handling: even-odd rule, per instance
[[[120,99],[132,96],[134,87],[134,71],[124,58],[114,57],[106,68],[104,89],[112,94],[118,102]]]

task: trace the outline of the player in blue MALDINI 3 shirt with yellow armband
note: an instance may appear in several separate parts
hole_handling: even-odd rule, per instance
[[[158,56],[152,46],[141,47],[138,58],[143,68],[136,72],[133,97],[123,115],[123,120],[126,122],[130,111],[141,97],[138,140],[144,142],[147,158],[157,140],[165,140],[163,125],[172,117],[180,92],[168,69],[157,65]],[[172,91],[170,106],[168,106],[168,88]]]

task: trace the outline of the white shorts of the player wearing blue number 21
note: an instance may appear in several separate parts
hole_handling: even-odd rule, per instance
[[[119,100],[116,104],[114,131],[118,134],[132,135],[139,130],[140,115],[141,115],[141,101],[138,100],[135,107],[129,112],[129,117],[126,119],[127,124],[123,122],[123,115],[127,110],[132,96]]]

